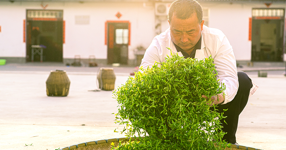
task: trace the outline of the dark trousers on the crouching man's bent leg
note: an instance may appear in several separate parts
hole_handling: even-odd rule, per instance
[[[236,143],[235,133],[238,125],[238,116],[246,106],[249,92],[252,88],[251,79],[247,76],[245,72],[238,71],[237,75],[239,87],[235,98],[226,104],[219,104],[216,107],[217,112],[223,112],[223,116],[227,116],[225,118],[225,122],[227,124],[225,124],[223,120],[220,121],[223,126],[222,131],[227,133],[223,136],[222,140],[225,140],[227,143],[232,144]],[[224,109],[228,110],[224,112]],[[213,110],[213,107],[211,107],[211,110]]]

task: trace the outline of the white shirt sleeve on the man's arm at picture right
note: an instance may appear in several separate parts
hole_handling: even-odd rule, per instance
[[[213,59],[218,73],[217,79],[226,88],[225,100],[222,103],[226,104],[232,101],[238,91],[236,60],[232,46],[225,35],[218,38],[216,46],[217,51]]]

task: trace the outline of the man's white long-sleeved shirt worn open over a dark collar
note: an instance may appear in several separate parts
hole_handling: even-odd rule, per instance
[[[225,101],[222,103],[226,104],[232,101],[238,91],[236,60],[232,46],[219,29],[203,26],[201,34],[201,49],[196,50],[195,58],[202,60],[209,58],[210,55],[212,56],[218,73],[217,79],[219,79],[220,83],[224,83],[226,87],[224,91]],[[170,35],[170,29],[167,29],[153,39],[150,46],[146,49],[140,67],[146,69],[148,66],[152,67],[155,62],[165,61],[167,55],[171,57],[171,51],[166,47],[172,49],[172,53],[178,53],[179,56],[183,57],[181,52],[177,52]],[[252,95],[255,91],[250,92],[250,94]]]

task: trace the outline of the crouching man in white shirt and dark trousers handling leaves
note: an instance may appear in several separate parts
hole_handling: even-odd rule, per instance
[[[174,1],[168,13],[170,28],[157,35],[145,52],[140,67],[152,67],[155,62],[163,62],[167,55],[178,53],[185,58],[202,60],[210,55],[218,72],[217,79],[224,83],[224,94],[210,99],[217,105],[219,112],[227,116],[222,122],[222,130],[227,134],[223,140],[237,144],[235,133],[238,126],[238,116],[247,104],[248,98],[258,88],[246,73],[237,71],[236,60],[226,36],[218,29],[204,26],[201,5],[195,0]],[[172,50],[167,49],[169,47]],[[202,95],[203,98],[207,98]],[[211,107],[213,108],[213,107]]]

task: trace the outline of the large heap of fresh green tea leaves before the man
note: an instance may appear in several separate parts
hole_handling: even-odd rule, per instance
[[[113,149],[225,149],[219,121],[224,117],[202,98],[225,90],[211,57],[199,61],[174,54],[141,70],[113,92],[119,104],[115,122],[126,126],[121,133],[139,142]]]

